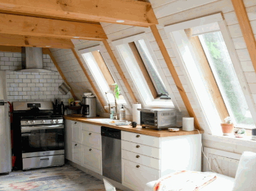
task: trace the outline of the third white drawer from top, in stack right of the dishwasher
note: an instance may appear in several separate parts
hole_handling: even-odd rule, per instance
[[[152,157],[147,157],[138,153],[129,152],[127,150],[122,150],[122,158],[130,160],[131,162],[139,163],[146,167],[155,168],[160,170],[160,160]]]

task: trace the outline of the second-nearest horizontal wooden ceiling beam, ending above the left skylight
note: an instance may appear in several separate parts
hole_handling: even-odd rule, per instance
[[[60,21],[0,13],[0,33],[63,39],[107,39],[100,24]]]

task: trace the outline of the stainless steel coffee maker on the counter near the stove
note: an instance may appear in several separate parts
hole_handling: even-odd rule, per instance
[[[81,114],[83,117],[96,116],[96,97],[83,97]]]

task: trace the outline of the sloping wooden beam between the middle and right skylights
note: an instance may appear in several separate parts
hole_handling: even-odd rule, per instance
[[[168,51],[167,51],[167,49],[164,45],[163,39],[161,38],[156,25],[152,25],[150,28],[151,28],[151,31],[154,35],[154,38],[156,39],[156,43],[158,44],[159,49],[160,49],[161,53],[164,56],[164,60],[166,61],[166,65],[169,68],[171,76],[173,76],[173,80],[174,80],[174,82],[175,82],[175,84],[176,84],[176,86],[179,90],[179,94],[181,95],[181,98],[184,102],[184,105],[186,106],[188,114],[189,114],[189,116],[194,118],[195,128],[198,129],[198,130],[201,130],[201,127],[200,127],[200,124],[199,124],[199,122],[196,118],[195,112],[193,111],[193,108],[192,108],[192,106],[191,106],[191,104],[188,100],[188,96],[186,95],[186,92],[183,88],[183,85],[181,84],[181,80],[179,80],[179,76],[178,76],[178,74],[177,74],[177,72],[174,68],[173,62],[171,61],[171,58],[168,54]]]

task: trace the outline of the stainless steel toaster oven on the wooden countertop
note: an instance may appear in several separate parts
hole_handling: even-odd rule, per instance
[[[169,128],[176,126],[176,111],[165,109],[137,109],[141,111],[141,126],[146,128],[156,128],[161,130],[162,128]]]

